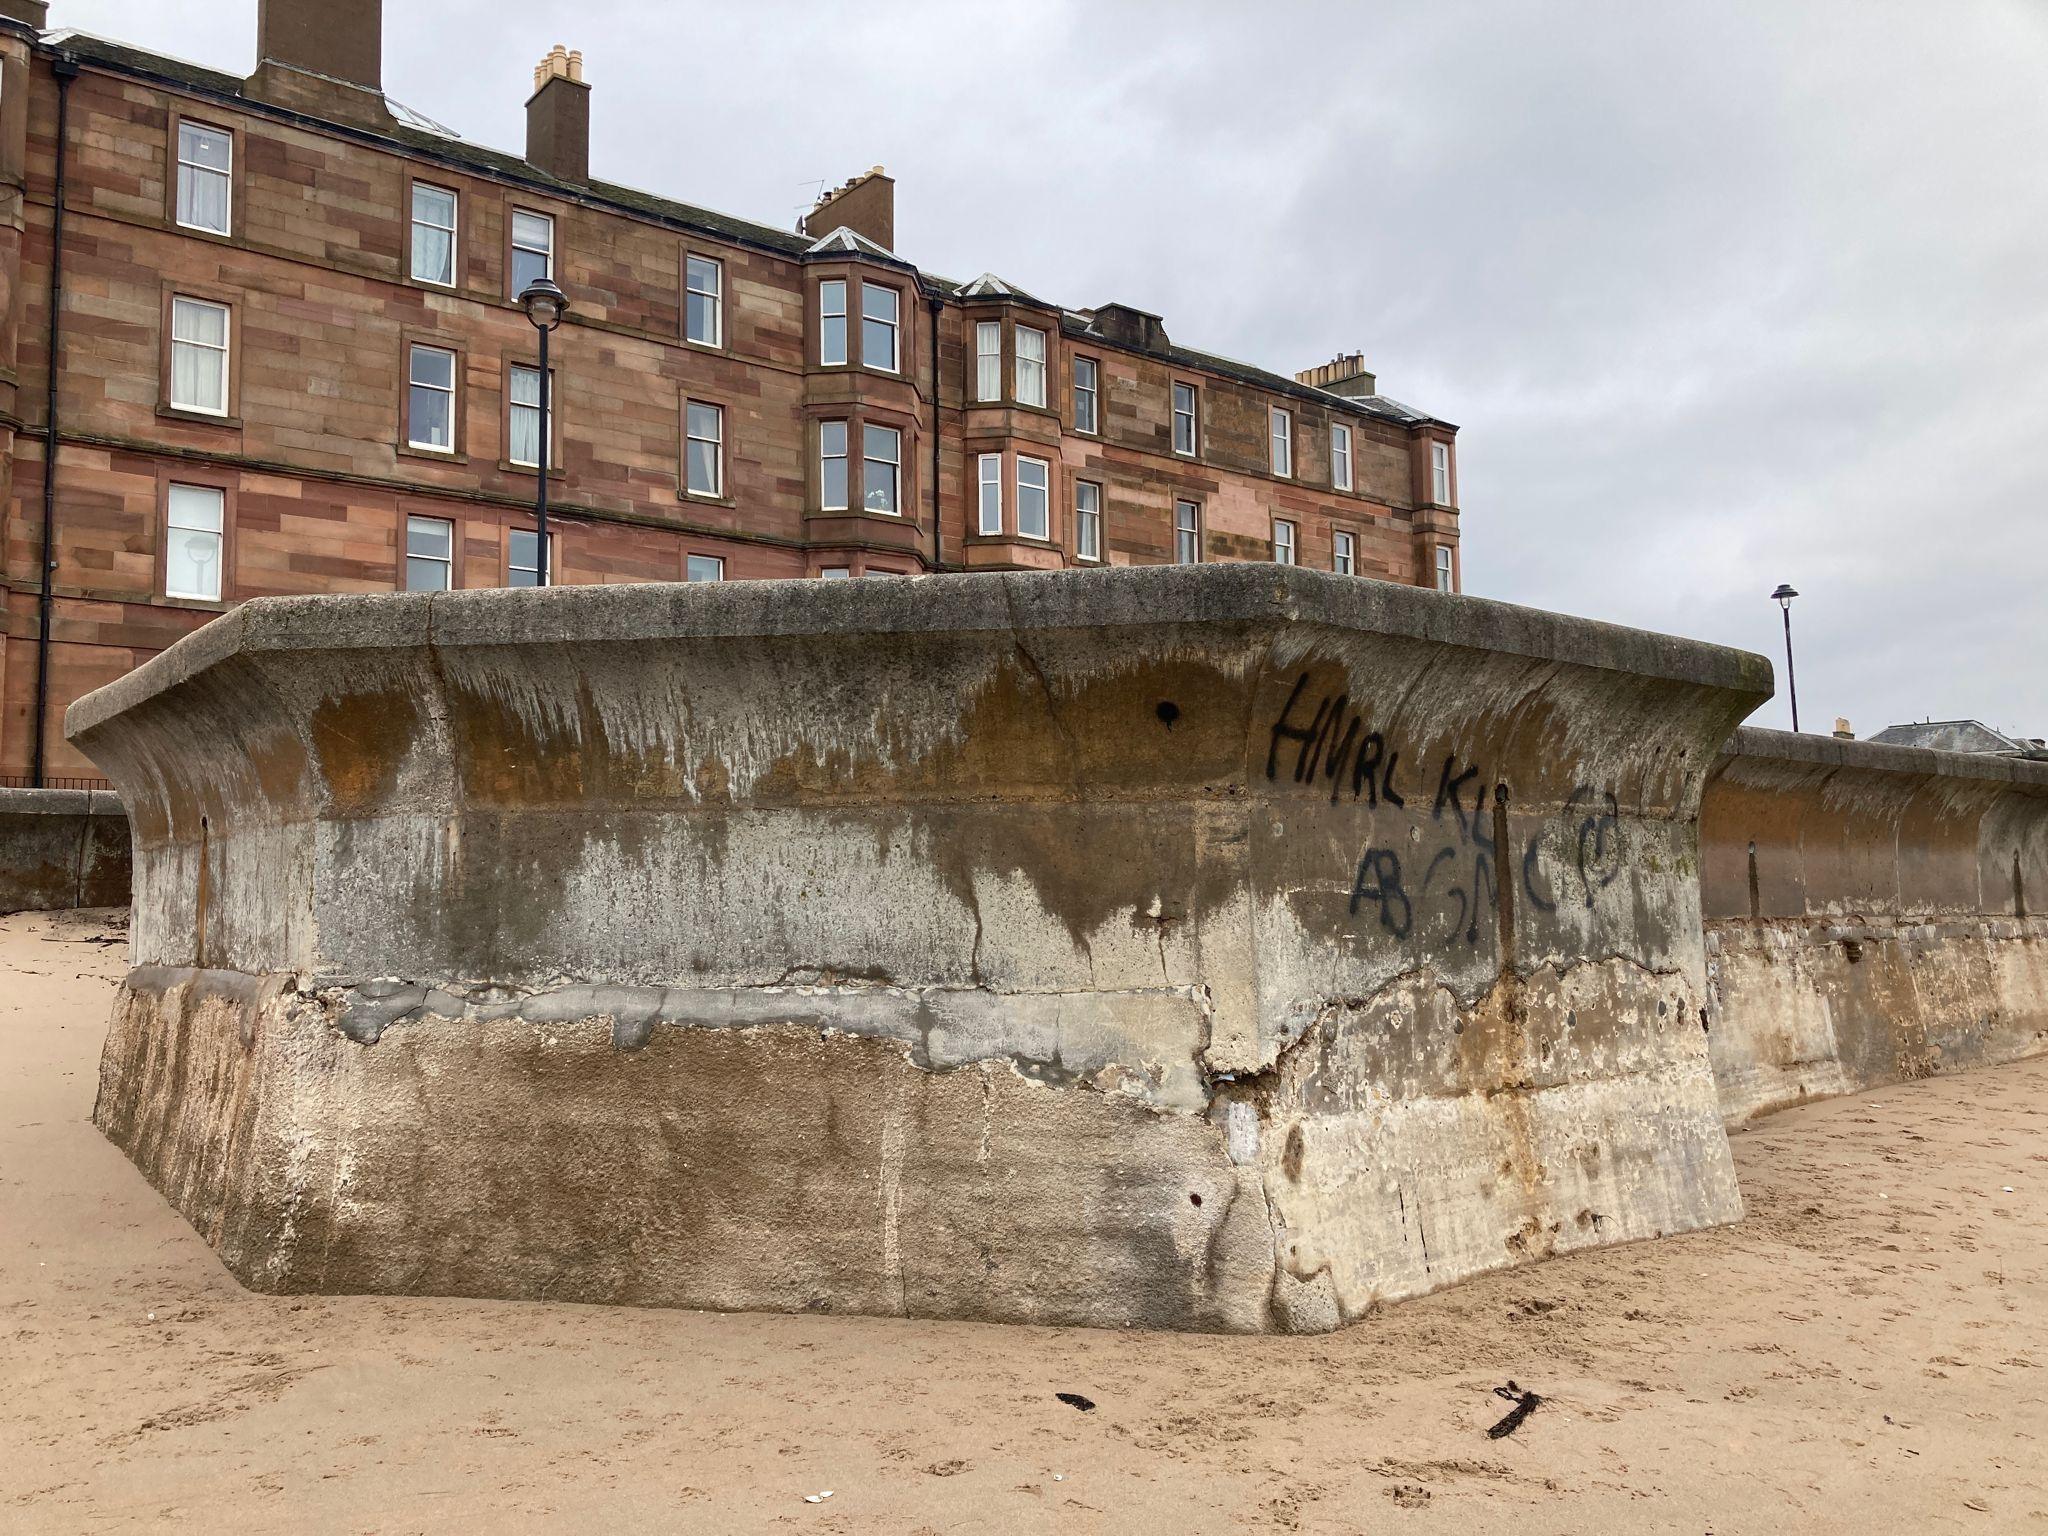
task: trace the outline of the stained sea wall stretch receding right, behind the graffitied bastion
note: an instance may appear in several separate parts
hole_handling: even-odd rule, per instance
[[[2048,764],[1737,731],[1700,854],[1731,1124],[2048,1051]]]

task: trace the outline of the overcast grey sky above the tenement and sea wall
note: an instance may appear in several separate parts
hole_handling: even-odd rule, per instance
[[[254,0],[53,0],[223,70]],[[518,150],[580,47],[596,174],[1360,348],[1456,422],[1464,586],[1774,657],[1858,735],[2048,735],[2048,0],[393,0],[385,86]],[[1784,725],[1784,705],[1757,723]]]

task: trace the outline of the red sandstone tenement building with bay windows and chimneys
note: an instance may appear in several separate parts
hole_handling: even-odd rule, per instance
[[[922,272],[879,168],[795,233],[594,180],[559,49],[524,158],[463,143],[387,104],[381,0],[260,0],[248,80],[43,23],[0,0],[0,782],[90,776],[63,709],[244,598],[532,582],[535,276],[557,582],[1458,584],[1456,428],[1358,356]]]

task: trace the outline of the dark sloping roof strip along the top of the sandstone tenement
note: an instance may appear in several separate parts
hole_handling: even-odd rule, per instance
[[[397,143],[418,156],[438,160],[449,166],[479,170],[489,176],[502,176],[514,182],[526,182],[530,186],[545,188],[547,193],[561,197],[565,201],[596,201],[608,203],[612,207],[637,213],[647,219],[662,223],[684,225],[694,231],[721,236],[741,246],[756,246],[780,256],[791,256],[803,260],[805,256],[823,254],[858,254],[879,260],[889,260],[897,266],[909,266],[909,270],[920,272],[920,279],[932,293],[942,297],[1008,297],[1022,303],[1038,305],[1042,309],[1057,309],[1061,315],[1061,330],[1069,336],[1087,338],[1100,346],[1114,346],[1122,352],[1139,352],[1143,356],[1159,356],[1167,362],[1178,362],[1188,369],[1200,369],[1204,373],[1214,373],[1225,379],[1235,379],[1239,383],[1253,385],[1257,389],[1270,389],[1280,395],[1294,395],[1296,399],[1313,399],[1319,406],[1339,412],[1356,412],[1360,416],[1372,416],[1384,422],[1395,422],[1401,426],[1423,426],[1436,424],[1450,428],[1450,422],[1419,412],[1411,406],[1403,406],[1386,395],[1339,395],[1329,389],[1317,389],[1315,385],[1305,385],[1298,379],[1290,379],[1282,373],[1270,373],[1251,362],[1239,362],[1237,358],[1227,358],[1217,352],[1198,352],[1188,346],[1165,346],[1165,348],[1135,348],[1126,342],[1112,342],[1102,332],[1094,330],[1092,311],[1085,309],[1059,309],[1044,299],[1036,299],[1012,283],[997,279],[993,272],[983,272],[969,285],[950,283],[946,279],[924,272],[922,268],[905,262],[895,252],[883,250],[879,244],[860,236],[852,229],[840,227],[821,240],[797,233],[791,229],[776,229],[766,223],[756,223],[752,219],[739,219],[729,213],[717,213],[713,209],[696,207],[694,203],[678,203],[668,197],[657,197],[653,193],[641,193],[633,186],[618,186],[616,182],[602,182],[592,178],[590,182],[565,182],[549,176],[539,166],[522,160],[520,156],[506,154],[504,150],[489,150],[469,139],[455,137],[451,131],[442,129],[432,119],[412,111],[393,106],[393,127],[385,131],[373,131],[362,127],[352,127],[348,123],[336,123],[332,119],[309,117],[307,113],[293,111],[289,106],[279,106],[274,102],[254,100],[244,92],[244,80],[240,76],[227,74],[223,70],[211,70],[203,63],[190,63],[186,59],[176,59],[166,53],[150,53],[147,49],[131,47],[127,43],[117,43],[106,37],[94,37],[90,33],[51,33],[43,39],[49,47],[57,47],[66,53],[76,55],[88,63],[100,63],[111,70],[121,70],[125,74],[141,76],[147,80],[160,80],[170,86],[197,90],[213,96],[229,96],[248,106],[250,111],[266,113],[272,117],[299,119],[317,125],[322,131],[340,133],[346,137],[356,137],[365,141],[389,141]],[[428,127],[430,125],[430,127]],[[987,287],[983,287],[987,285]]]

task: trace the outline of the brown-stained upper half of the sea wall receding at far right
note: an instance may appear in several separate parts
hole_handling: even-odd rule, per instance
[[[2023,918],[2048,905],[2048,764],[1743,729],[1700,858],[1708,920]]]

